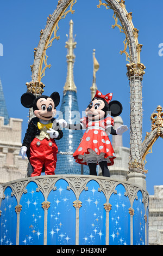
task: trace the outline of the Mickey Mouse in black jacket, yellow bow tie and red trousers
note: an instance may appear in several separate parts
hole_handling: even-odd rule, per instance
[[[54,139],[60,140],[63,136],[59,124],[54,118],[55,109],[60,102],[58,92],[51,96],[35,97],[32,93],[24,93],[21,103],[25,108],[32,108],[36,117],[28,124],[21,147],[23,159],[27,153],[30,164],[33,168],[31,176],[40,176],[45,168],[46,175],[54,175],[56,168],[58,147]]]

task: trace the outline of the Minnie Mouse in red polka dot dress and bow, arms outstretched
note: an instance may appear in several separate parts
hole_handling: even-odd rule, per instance
[[[90,175],[97,175],[96,166],[102,169],[102,175],[110,177],[109,165],[114,164],[115,152],[109,140],[109,134],[122,135],[128,130],[127,126],[120,126],[115,130],[114,120],[111,116],[119,116],[122,105],[117,100],[111,102],[112,93],[103,95],[97,90],[95,97],[87,106],[86,117],[80,120],[80,124],[68,124],[65,120],[59,120],[59,124],[68,129],[86,129],[73,157],[79,164],[89,166]],[[110,111],[110,112],[108,112]],[[111,116],[107,117],[108,114]]]

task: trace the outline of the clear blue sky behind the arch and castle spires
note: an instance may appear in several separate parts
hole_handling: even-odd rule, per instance
[[[7,104],[9,117],[22,118],[22,139],[28,126],[28,110],[20,103],[21,95],[26,92],[26,82],[31,81],[30,65],[34,61],[34,48],[40,39],[40,31],[45,28],[47,17],[57,7],[57,0],[8,0],[1,3],[0,9],[0,44],[3,45],[3,56],[0,56],[0,77]],[[98,90],[103,94],[112,92],[113,100],[119,100],[123,105],[121,117],[129,127],[129,82],[126,76],[127,68],[123,50],[124,34],[118,28],[112,29],[115,21],[113,11],[105,7],[97,9],[98,0],[77,0],[73,9],[75,13],[68,14],[59,22],[60,40],[54,40],[48,49],[48,63],[51,69],[46,70],[42,82],[46,85],[45,94],[58,91],[62,98],[66,81],[67,64],[65,41],[69,31],[69,22],[74,22],[77,48],[74,53],[74,82],[77,86],[79,110],[82,113],[91,100],[92,85],[92,51],[96,49],[96,58],[100,68],[96,74]],[[158,105],[162,105],[162,62],[163,44],[162,32],[162,0],[126,0],[126,9],[133,12],[134,26],[139,29],[139,43],[143,44],[141,63],[146,66],[143,77],[143,134],[151,131],[150,117]],[[163,46],[161,46],[163,48]],[[60,105],[58,106],[58,110]],[[123,135],[123,146],[129,147],[129,132]],[[161,163],[162,139],[153,146],[153,153],[148,154],[148,169],[146,181],[149,194],[153,194],[153,186],[163,184]]]

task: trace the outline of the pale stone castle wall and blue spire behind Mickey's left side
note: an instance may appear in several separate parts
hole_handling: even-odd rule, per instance
[[[20,156],[22,121],[9,118],[0,79],[0,184],[26,176],[27,162]]]

